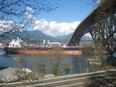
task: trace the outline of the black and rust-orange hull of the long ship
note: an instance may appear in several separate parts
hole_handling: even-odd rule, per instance
[[[8,54],[61,54],[61,55],[82,55],[82,48],[80,47],[24,47],[11,48],[5,47],[5,52]]]

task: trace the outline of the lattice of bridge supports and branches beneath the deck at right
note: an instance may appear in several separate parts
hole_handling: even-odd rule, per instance
[[[90,27],[90,34],[95,42],[96,47],[103,47],[109,52],[114,52],[116,40],[113,34],[116,33],[116,14],[101,20]]]

